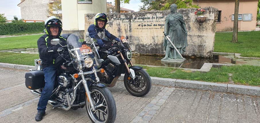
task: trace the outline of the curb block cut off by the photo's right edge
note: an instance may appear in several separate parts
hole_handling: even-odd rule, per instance
[[[228,84],[228,92],[260,96],[260,87]]]

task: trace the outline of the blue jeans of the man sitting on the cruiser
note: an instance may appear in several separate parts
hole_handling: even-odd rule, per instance
[[[56,69],[55,66],[49,66],[43,69],[45,86],[38,102],[38,112],[45,112],[46,110],[49,97],[52,94],[55,84]]]

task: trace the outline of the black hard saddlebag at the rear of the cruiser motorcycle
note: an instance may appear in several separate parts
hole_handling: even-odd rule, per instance
[[[25,86],[28,89],[36,90],[44,87],[44,73],[43,71],[36,70],[25,73]]]

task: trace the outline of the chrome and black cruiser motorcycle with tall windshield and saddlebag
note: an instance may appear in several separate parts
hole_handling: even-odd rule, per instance
[[[115,100],[106,84],[103,84],[97,75],[98,72],[104,72],[104,69],[96,69],[101,66],[102,59],[97,53],[93,39],[92,44],[84,44],[83,39],[79,37],[79,32],[69,35],[67,46],[57,50],[60,54],[55,60],[55,64],[59,65],[57,80],[48,104],[63,110],[77,110],[85,106],[92,122],[114,122]],[[53,39],[51,44],[60,45],[60,40]],[[45,84],[44,73],[41,70],[41,60],[36,59],[35,63],[38,68],[25,74],[25,84],[33,95],[40,97]],[[95,76],[95,79],[91,79],[91,76]]]

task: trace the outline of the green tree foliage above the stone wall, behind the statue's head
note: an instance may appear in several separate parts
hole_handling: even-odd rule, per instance
[[[180,8],[199,8],[192,5],[193,0],[141,0],[143,6],[139,10],[167,10],[170,5],[175,3]]]

